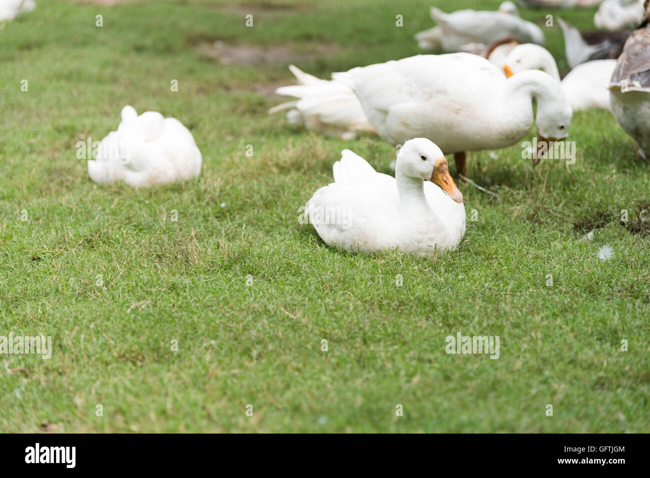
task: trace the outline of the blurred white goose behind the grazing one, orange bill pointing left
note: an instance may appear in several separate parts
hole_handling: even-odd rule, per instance
[[[573,111],[600,108],[609,110],[609,85],[616,60],[593,60],[579,64],[569,71],[560,82]],[[503,70],[506,77],[525,71],[539,69],[560,81],[560,73],[551,53],[533,44],[518,45],[508,53]]]

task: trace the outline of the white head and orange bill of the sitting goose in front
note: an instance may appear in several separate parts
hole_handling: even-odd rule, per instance
[[[449,174],[447,158],[426,138],[414,138],[404,143],[397,155],[395,173],[431,181],[457,203],[463,202],[463,194]]]

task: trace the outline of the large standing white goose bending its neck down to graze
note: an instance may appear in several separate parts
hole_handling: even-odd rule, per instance
[[[428,138],[454,153],[463,176],[465,151],[513,145],[528,134],[533,119],[539,136],[537,164],[544,140],[566,138],[573,115],[560,84],[547,73],[528,70],[506,79],[502,69],[470,53],[417,55],[333,77],[352,87],[384,140],[398,145],[408,138]]]

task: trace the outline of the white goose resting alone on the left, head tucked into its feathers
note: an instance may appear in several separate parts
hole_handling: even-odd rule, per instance
[[[88,175],[99,183],[158,186],[194,179],[201,172],[201,153],[180,121],[155,111],[138,116],[128,105],[122,108],[118,130],[101,140],[93,158]]]

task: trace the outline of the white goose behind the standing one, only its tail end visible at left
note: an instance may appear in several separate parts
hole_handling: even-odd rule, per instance
[[[289,123],[304,123],[307,129],[344,140],[356,138],[362,131],[374,133],[349,86],[335,80],[318,79],[293,65],[289,69],[299,84],[281,86],[276,94],[300,99],[273,107],[269,113],[291,108],[287,112]]]

